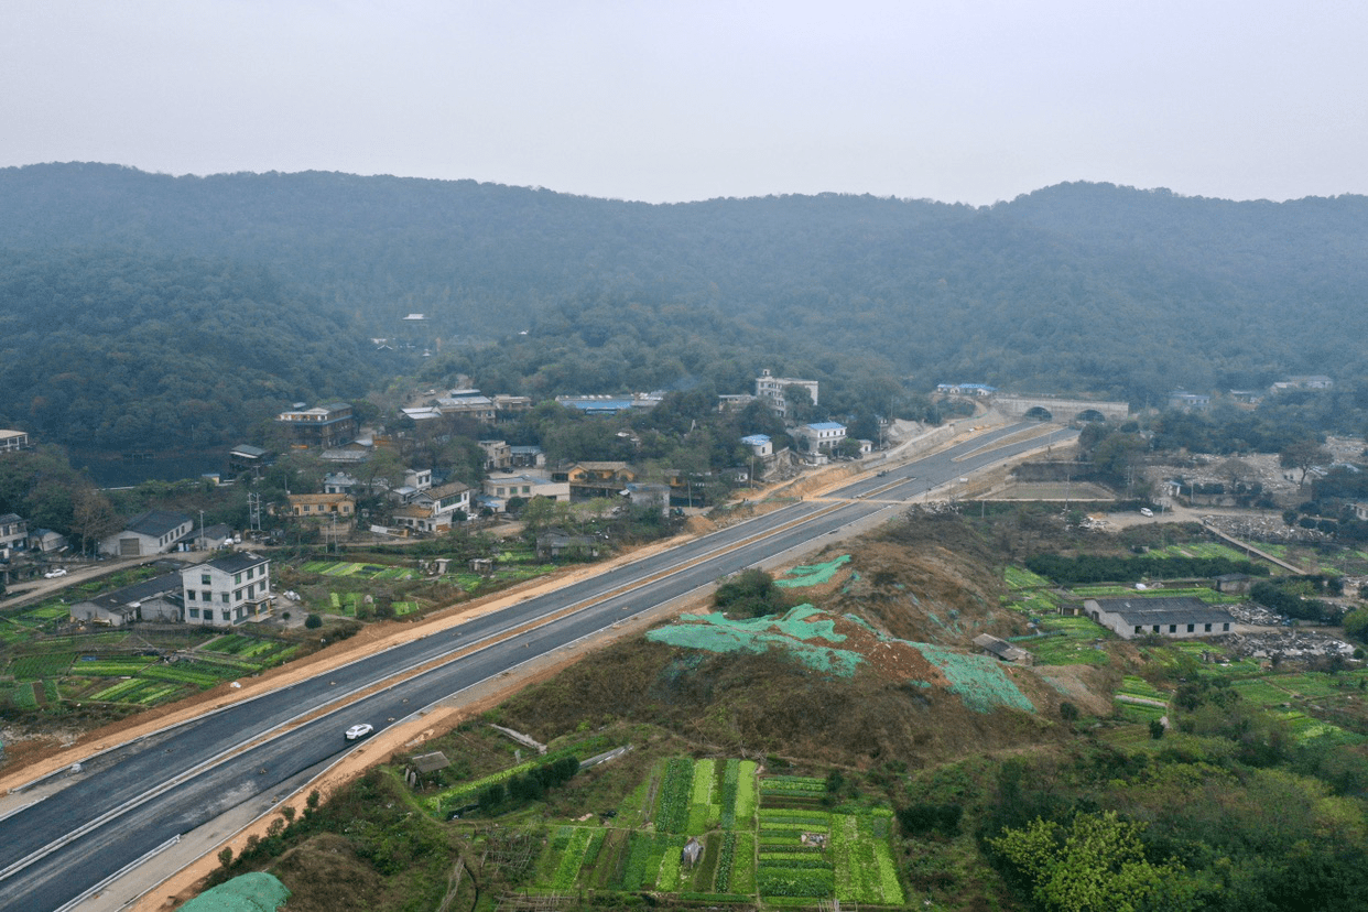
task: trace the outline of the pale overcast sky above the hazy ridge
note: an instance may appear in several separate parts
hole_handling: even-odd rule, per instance
[[[0,167],[1368,193],[1361,0],[4,0]]]

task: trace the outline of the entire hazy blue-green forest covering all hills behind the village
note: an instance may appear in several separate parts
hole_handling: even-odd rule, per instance
[[[538,395],[741,392],[769,366],[824,380],[836,406],[945,380],[1160,405],[1364,373],[1363,197],[1074,183],[984,208],[647,205],[48,164],[0,170],[0,424],[63,442],[230,439],[280,401],[360,394],[423,364],[368,343],[410,312],[430,317],[430,376]]]

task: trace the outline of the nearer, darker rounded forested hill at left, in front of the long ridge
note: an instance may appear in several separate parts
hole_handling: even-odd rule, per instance
[[[0,252],[0,427],[166,451],[249,439],[295,401],[358,395],[358,334],[263,267]]]

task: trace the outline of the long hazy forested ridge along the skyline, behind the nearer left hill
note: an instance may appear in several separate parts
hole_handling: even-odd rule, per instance
[[[1074,183],[986,208],[839,194],[647,205],[472,180],[51,164],[0,170],[0,211],[3,249],[267,267],[372,335],[413,310],[445,339],[529,330],[494,364],[505,386],[540,372],[539,391],[663,386],[724,361],[840,376],[858,361],[922,388],[1144,403],[1365,366],[1363,197]],[[538,364],[550,349],[569,358],[564,380]],[[577,380],[576,353],[609,369]]]

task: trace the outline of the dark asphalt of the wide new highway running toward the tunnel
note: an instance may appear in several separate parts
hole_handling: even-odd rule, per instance
[[[423,707],[624,618],[785,551],[810,550],[821,536],[837,535],[881,510],[900,510],[906,500],[932,488],[956,484],[975,469],[1044,446],[1044,438],[995,443],[1031,428],[1038,425],[979,435],[821,499],[793,503],[101,755],[70,777],[60,792],[0,820],[0,908],[59,909],[174,835],[357,747],[343,738],[357,722],[371,722],[382,732]],[[1073,436],[1056,429],[1049,442]],[[575,606],[581,607],[501,639]],[[269,734],[404,669],[466,648],[475,651],[279,736]],[[254,740],[260,744],[242,749]]]

